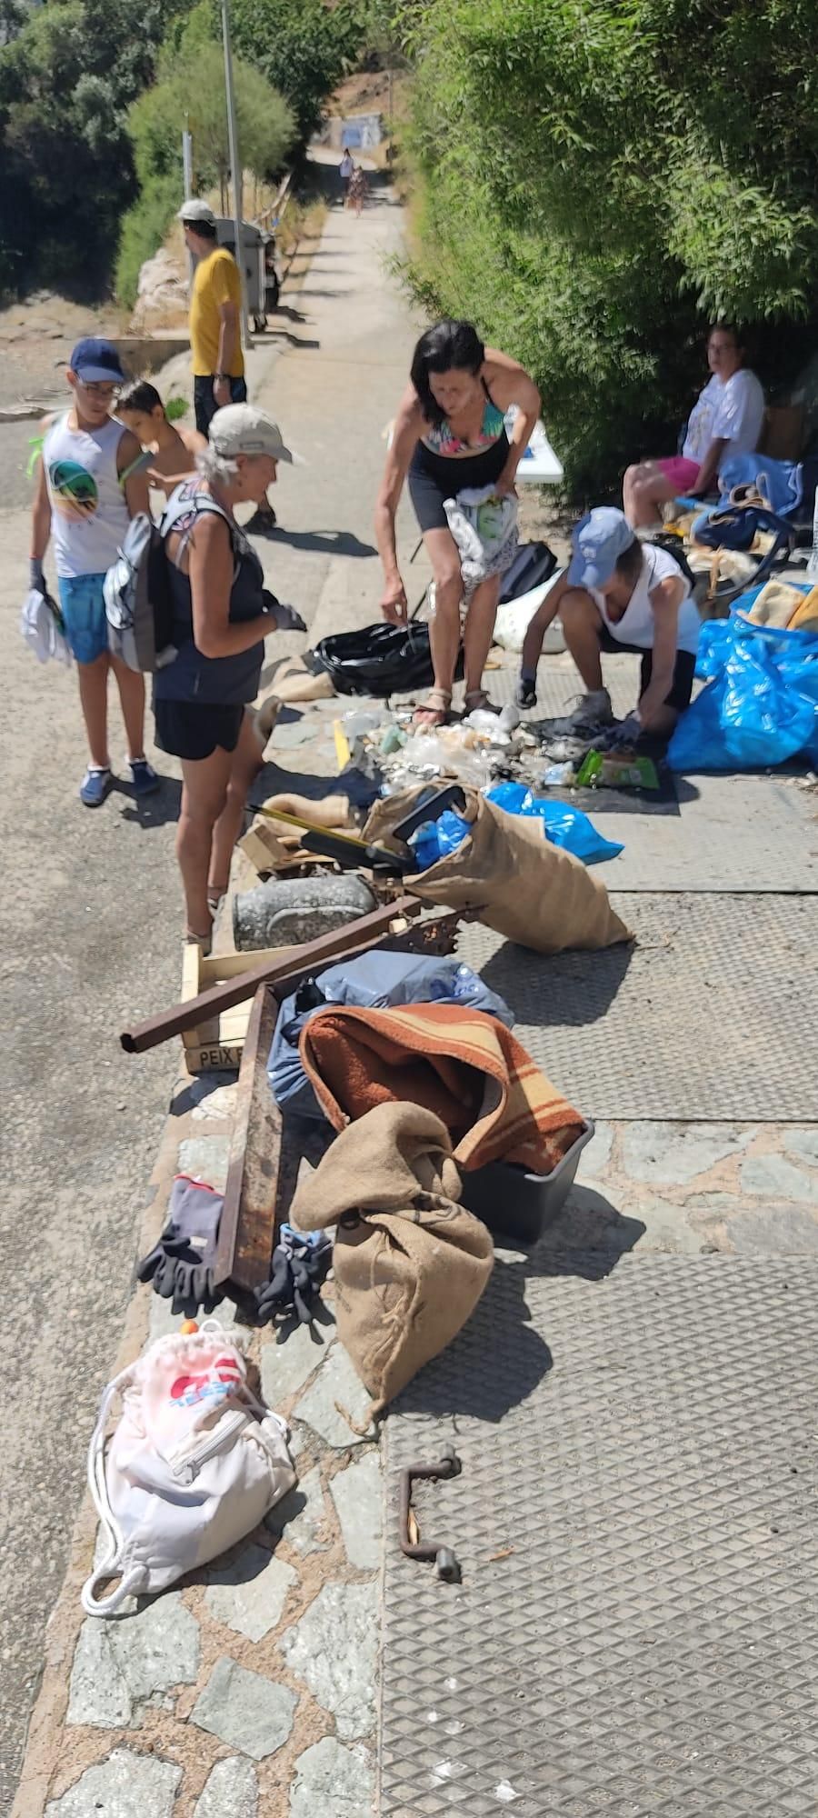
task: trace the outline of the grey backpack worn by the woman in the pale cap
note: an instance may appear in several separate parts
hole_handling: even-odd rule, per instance
[[[164,518],[131,518],[104,582],[107,647],[129,669],[153,674],[176,656]]]

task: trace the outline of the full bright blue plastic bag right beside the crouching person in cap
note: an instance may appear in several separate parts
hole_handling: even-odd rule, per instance
[[[745,611],[749,596],[740,607]],[[705,636],[707,634],[707,636]],[[753,625],[733,613],[705,625],[711,674],[667,749],[673,771],[774,769],[818,749],[818,636]],[[698,665],[696,665],[698,669]]]

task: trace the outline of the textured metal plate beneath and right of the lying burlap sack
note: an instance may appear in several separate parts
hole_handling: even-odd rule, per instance
[[[818,898],[611,893],[633,947],[554,958],[465,927],[458,954],[594,1118],[809,1124]]]

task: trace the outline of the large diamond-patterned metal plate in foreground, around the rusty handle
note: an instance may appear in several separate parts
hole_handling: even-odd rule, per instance
[[[814,1813],[818,1262],[536,1258],[385,1427],[380,1818]]]

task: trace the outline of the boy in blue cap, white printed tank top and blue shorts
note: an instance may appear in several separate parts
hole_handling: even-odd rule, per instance
[[[149,509],[147,474],[136,436],[111,416],[125,375],[116,347],[82,340],[67,369],[71,409],[44,422],[31,527],[31,587],[45,593],[44,560],[55,544],[65,640],[76,660],[89,765],[80,802],[100,807],[111,785],[107,745],[107,676],[113,669],[125,722],[135,794],[158,789],[145,758],[145,684],[107,649],[104,580],[125,536],[129,518]]]

